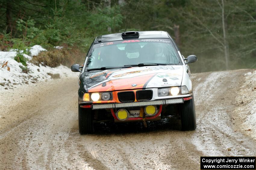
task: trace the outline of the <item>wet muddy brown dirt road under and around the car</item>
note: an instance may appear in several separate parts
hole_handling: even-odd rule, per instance
[[[1,89],[0,169],[200,169],[200,156],[255,156],[255,69],[192,83],[195,131],[168,119],[101,123],[92,135],[78,133],[77,78]]]

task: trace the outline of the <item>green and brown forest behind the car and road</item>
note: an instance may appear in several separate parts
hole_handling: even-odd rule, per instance
[[[0,0],[0,15],[0,51],[19,62],[41,45],[34,63],[82,64],[98,35],[162,30],[194,73],[256,67],[256,0]]]

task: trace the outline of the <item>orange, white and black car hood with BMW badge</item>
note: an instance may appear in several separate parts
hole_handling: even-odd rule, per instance
[[[84,73],[88,92],[180,86],[183,66],[144,66]]]

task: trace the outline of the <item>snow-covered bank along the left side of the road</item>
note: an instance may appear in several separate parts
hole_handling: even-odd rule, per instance
[[[24,57],[31,59],[32,56],[37,55],[41,51],[46,51],[46,49],[35,45],[30,49],[31,55],[24,54]],[[0,51],[1,90],[13,89],[16,85],[47,81],[48,79],[78,76],[77,73],[71,72],[70,68],[63,65],[52,68],[42,65],[37,66],[29,61],[27,61],[28,70],[26,71],[21,63],[14,60],[16,55],[17,52],[15,50],[9,52]],[[8,61],[7,66],[2,67],[2,64],[6,61]],[[10,71],[8,71],[8,67]]]

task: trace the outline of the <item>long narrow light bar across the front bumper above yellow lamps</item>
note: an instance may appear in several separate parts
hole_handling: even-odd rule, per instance
[[[110,103],[110,104],[92,104],[92,110],[95,109],[113,109],[113,108],[125,108],[125,107],[137,107],[137,106],[149,106],[149,105],[167,105],[184,103],[183,98],[175,99],[163,99],[153,101],[131,102],[131,103]]]

